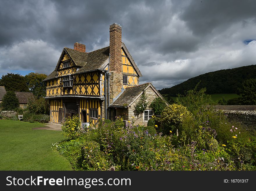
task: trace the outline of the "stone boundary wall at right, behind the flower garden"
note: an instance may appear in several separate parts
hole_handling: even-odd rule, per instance
[[[217,110],[218,111],[218,110]],[[221,110],[227,118],[256,129],[256,111]]]

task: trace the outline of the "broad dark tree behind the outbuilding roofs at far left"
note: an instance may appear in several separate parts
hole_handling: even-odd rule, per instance
[[[0,85],[4,86],[6,91],[29,92],[25,78],[20,74],[7,73],[2,75]]]

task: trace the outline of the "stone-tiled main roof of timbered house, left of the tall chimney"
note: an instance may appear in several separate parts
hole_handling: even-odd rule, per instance
[[[80,52],[80,51],[65,47],[63,51],[67,52],[67,54],[69,55],[71,60],[74,62],[74,64],[80,67],[80,69],[77,72],[75,72],[75,74],[100,69],[100,67],[104,64],[104,62],[109,58],[109,47],[98,49],[92,52]],[[60,64],[60,60],[58,61],[58,64],[55,70],[49,76],[47,76],[47,78],[45,78],[43,81],[47,81],[47,80],[58,77],[57,69],[59,64]]]

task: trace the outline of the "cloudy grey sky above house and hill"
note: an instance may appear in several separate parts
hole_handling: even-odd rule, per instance
[[[256,64],[255,7],[253,0],[1,0],[0,76],[48,75],[63,47],[109,46],[109,25],[118,23],[143,75],[140,84],[169,88]]]

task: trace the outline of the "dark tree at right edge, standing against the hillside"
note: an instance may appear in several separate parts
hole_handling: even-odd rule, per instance
[[[244,105],[256,105],[256,79],[243,81],[241,88],[237,88],[238,95],[242,96]]]

